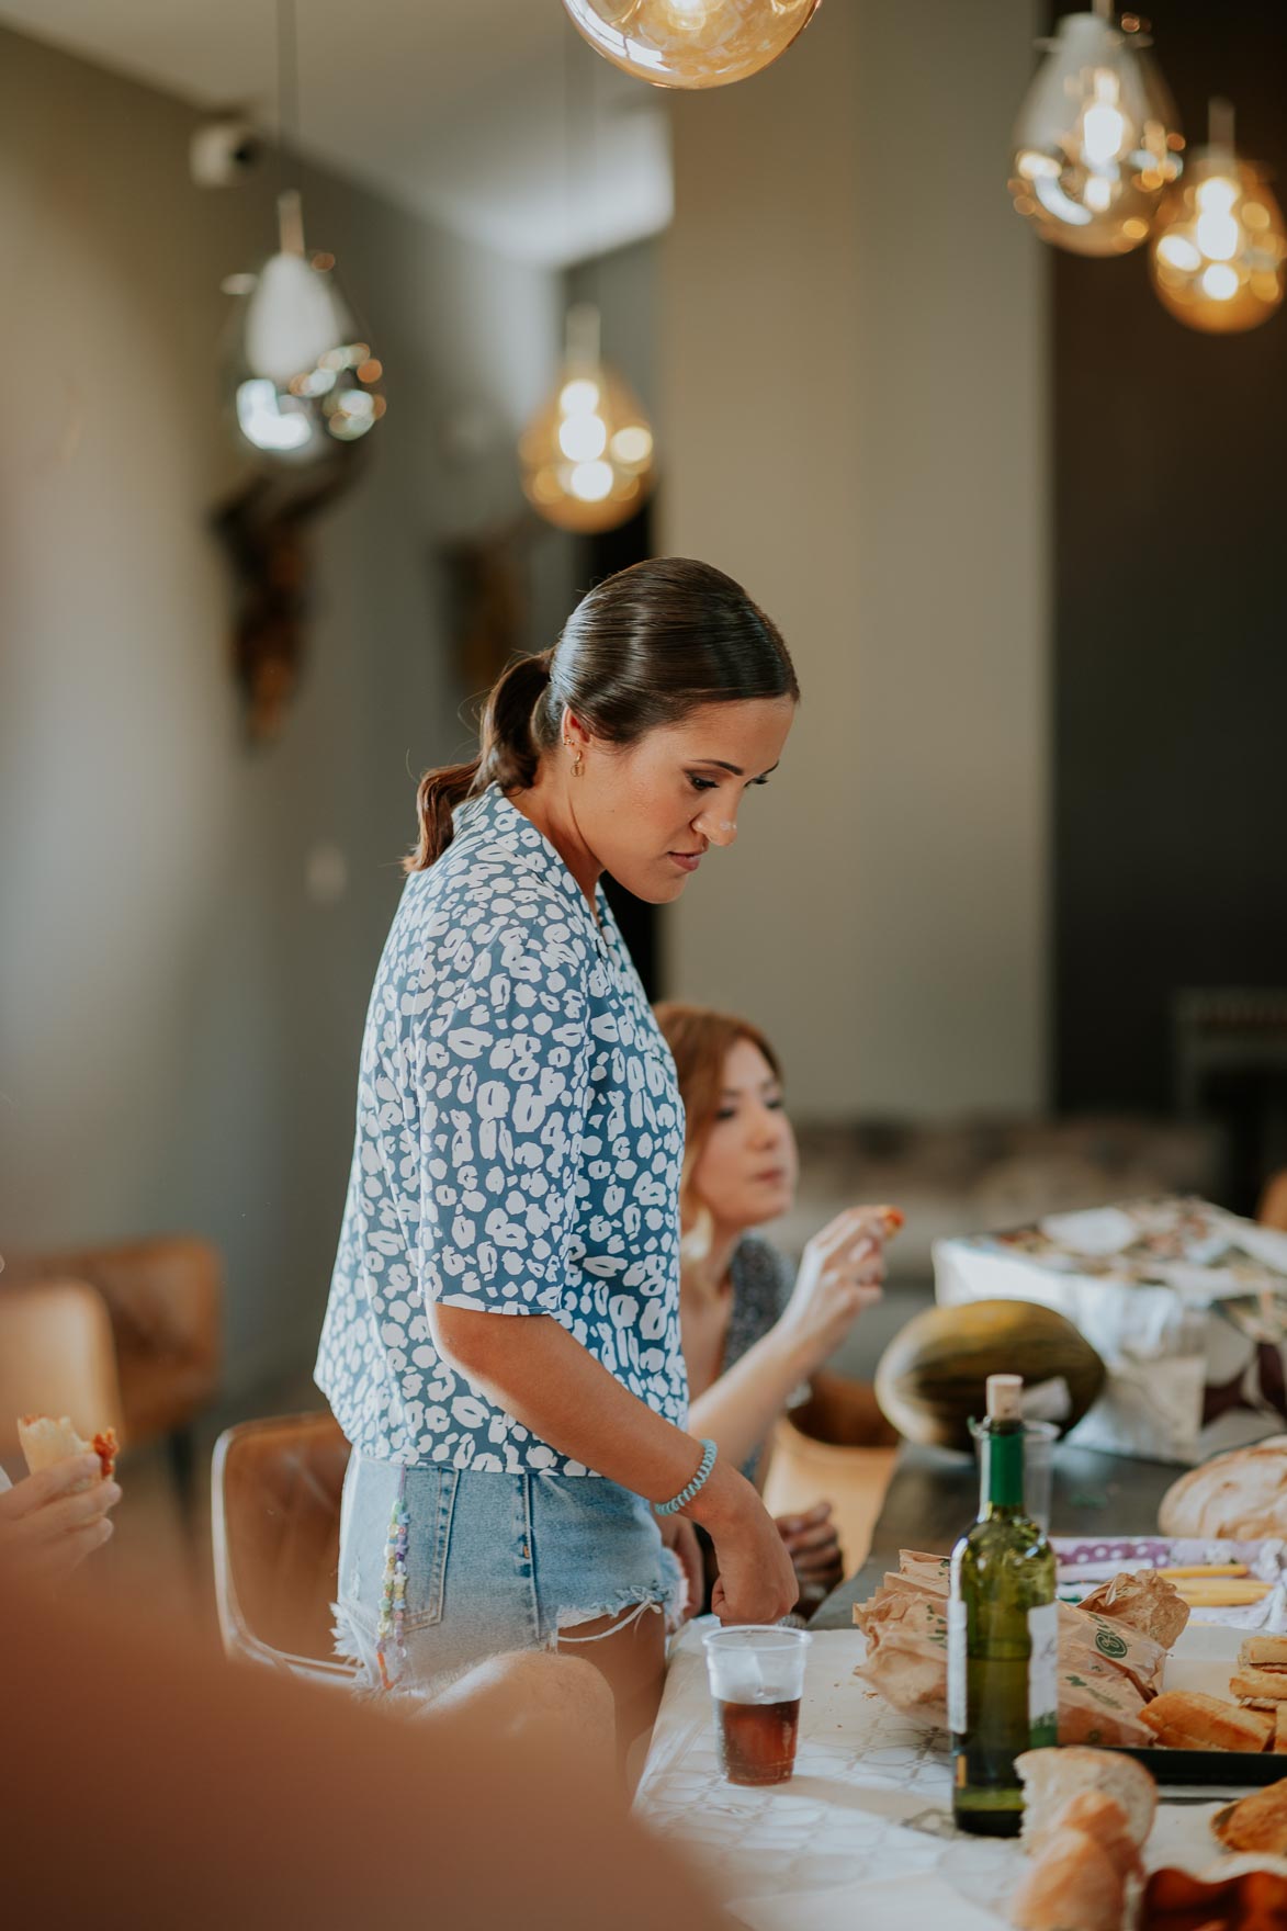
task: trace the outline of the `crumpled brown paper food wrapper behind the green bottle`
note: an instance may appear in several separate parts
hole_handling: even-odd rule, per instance
[[[875,1595],[854,1607],[854,1622],[868,1639],[856,1674],[904,1717],[937,1730],[947,1728],[949,1585],[947,1556],[904,1551],[899,1574],[885,1576]],[[1109,1583],[1096,1595],[1111,1589]],[[1175,1628],[1185,1605],[1161,1576],[1123,1589],[1111,1605],[1119,1614],[1059,1605],[1061,1744],[1150,1742],[1138,1713],[1161,1690],[1169,1647],[1150,1630]]]

